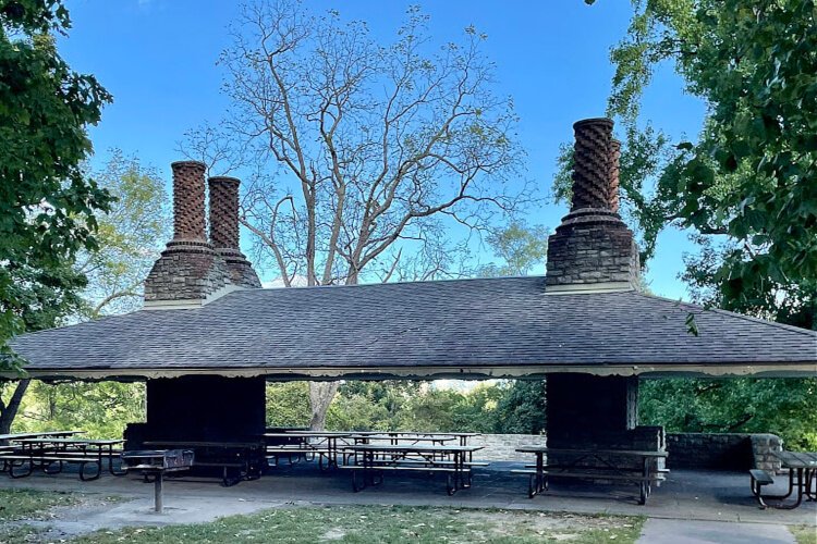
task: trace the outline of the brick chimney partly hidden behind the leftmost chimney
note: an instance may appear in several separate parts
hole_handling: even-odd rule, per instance
[[[230,281],[240,287],[261,282],[239,245],[239,185],[235,177],[210,177],[210,243],[227,263]]]

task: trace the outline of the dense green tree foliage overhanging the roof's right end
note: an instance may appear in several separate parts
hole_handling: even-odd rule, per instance
[[[658,178],[667,222],[712,237],[687,259],[705,301],[817,327],[817,11],[813,0],[634,2],[610,112],[635,125],[655,66],[708,106]],[[655,120],[654,120],[655,121]]]

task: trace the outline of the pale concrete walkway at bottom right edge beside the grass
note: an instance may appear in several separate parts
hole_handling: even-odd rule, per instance
[[[638,544],[795,544],[785,526],[650,518]]]

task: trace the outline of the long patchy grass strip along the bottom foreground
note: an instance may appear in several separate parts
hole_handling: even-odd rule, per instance
[[[278,508],[211,523],[98,531],[74,542],[634,543],[644,518],[398,506]]]

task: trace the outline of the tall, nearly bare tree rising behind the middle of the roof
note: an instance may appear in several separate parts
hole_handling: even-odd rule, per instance
[[[218,173],[244,170],[242,223],[285,286],[397,279],[401,261],[441,257],[453,233],[488,232],[529,198],[485,36],[468,27],[437,47],[426,24],[412,8],[382,46],[363,22],[283,0],[245,7],[231,28],[220,60],[231,108],[181,150]],[[313,384],[314,428],[336,390]]]

